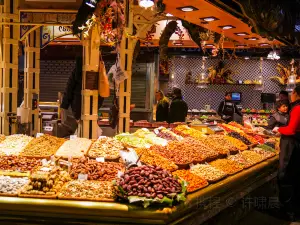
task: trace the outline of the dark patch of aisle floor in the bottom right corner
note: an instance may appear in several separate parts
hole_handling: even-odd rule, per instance
[[[287,222],[279,220],[268,214],[261,213],[257,210],[250,212],[245,218],[243,218],[238,225],[300,225],[298,222]]]

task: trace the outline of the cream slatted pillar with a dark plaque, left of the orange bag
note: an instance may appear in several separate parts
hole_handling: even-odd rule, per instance
[[[98,119],[98,82],[91,85],[89,79],[98,81],[100,37],[94,27],[90,36],[83,40],[83,71],[82,71],[82,136],[96,139]],[[93,87],[92,87],[93,86]]]

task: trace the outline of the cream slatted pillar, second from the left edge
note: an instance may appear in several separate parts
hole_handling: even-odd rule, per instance
[[[24,60],[24,103],[25,108],[30,109],[30,133],[35,135],[40,132],[38,107],[40,93],[40,29],[32,31],[26,37]],[[36,109],[33,109],[33,99],[37,100]]]

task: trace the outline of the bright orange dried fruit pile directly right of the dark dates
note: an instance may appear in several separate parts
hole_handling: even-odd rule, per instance
[[[187,192],[194,192],[208,185],[208,182],[203,177],[195,175],[189,170],[177,170],[172,174],[188,183]]]

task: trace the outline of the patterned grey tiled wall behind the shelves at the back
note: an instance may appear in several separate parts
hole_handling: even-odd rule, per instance
[[[220,60],[207,59],[205,63],[205,72],[210,66],[216,66]],[[234,80],[255,80],[259,75],[260,60],[225,60],[225,69],[231,69],[234,72]],[[190,109],[203,109],[204,105],[211,105],[211,108],[217,109],[219,103],[224,99],[226,91],[242,92],[242,105],[244,108],[261,108],[261,93],[276,93],[281,87],[270,80],[270,77],[277,75],[276,64],[281,63],[287,65],[289,62],[285,60],[263,61],[263,79],[264,90],[257,91],[254,86],[243,85],[210,85],[206,89],[197,88],[197,85],[185,84],[185,75],[191,70],[193,79],[202,72],[201,58],[174,58],[172,60],[174,81],[169,83],[169,89],[176,85],[183,91],[185,101]]]

